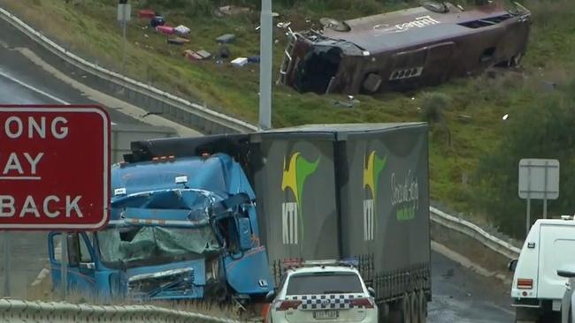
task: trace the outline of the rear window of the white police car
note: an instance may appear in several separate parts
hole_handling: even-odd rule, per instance
[[[353,273],[294,274],[289,278],[287,295],[363,293],[359,276]]]

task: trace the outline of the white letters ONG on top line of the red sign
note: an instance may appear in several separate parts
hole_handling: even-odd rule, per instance
[[[4,121],[4,135],[10,139],[46,139],[48,135],[55,139],[65,139],[68,136],[68,120],[64,116],[57,116],[46,123],[46,117],[9,116]]]

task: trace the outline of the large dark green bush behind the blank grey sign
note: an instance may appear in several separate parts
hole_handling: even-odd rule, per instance
[[[548,215],[575,212],[575,82],[511,111],[502,139],[479,159],[474,195],[477,206],[504,232],[524,237],[525,201],[517,197],[517,167],[522,158],[559,160],[560,196],[548,201]],[[532,219],[541,214],[542,203],[532,202]]]

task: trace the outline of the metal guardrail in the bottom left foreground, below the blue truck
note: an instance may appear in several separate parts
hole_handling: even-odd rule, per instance
[[[150,305],[101,306],[59,302],[0,299],[2,322],[125,322],[125,323],[240,323],[195,312],[175,311]]]

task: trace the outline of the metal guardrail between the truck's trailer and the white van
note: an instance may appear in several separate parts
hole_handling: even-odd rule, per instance
[[[519,257],[519,253],[521,252],[519,248],[500,238],[490,235],[486,230],[479,228],[478,225],[473,224],[472,222],[467,222],[453,215],[446,214],[435,207],[429,207],[429,214],[431,221],[438,223],[445,228],[462,233],[467,237],[471,237],[472,239],[479,241],[479,243],[487,246],[487,248],[492,251],[497,252],[508,259],[517,259]]]

